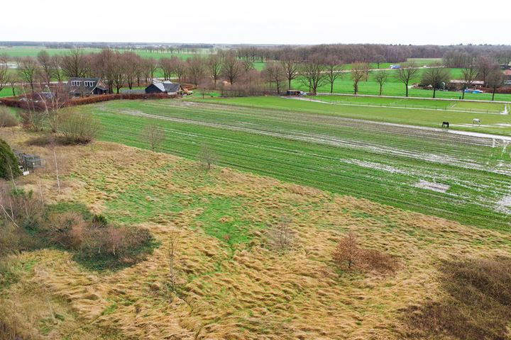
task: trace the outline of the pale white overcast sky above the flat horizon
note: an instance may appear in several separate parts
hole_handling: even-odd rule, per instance
[[[0,40],[511,44],[510,0],[1,0]]]

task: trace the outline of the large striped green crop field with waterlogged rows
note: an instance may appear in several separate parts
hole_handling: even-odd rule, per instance
[[[164,152],[196,159],[209,145],[223,166],[467,225],[509,227],[510,157],[491,140],[346,120],[319,103],[281,99],[289,105],[282,109],[254,99],[258,106],[111,101],[79,110],[99,118],[103,140],[146,148],[141,130],[153,121],[167,134]]]

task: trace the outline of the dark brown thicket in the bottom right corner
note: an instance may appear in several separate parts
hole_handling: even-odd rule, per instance
[[[444,261],[442,300],[405,310],[407,336],[509,339],[511,258]]]

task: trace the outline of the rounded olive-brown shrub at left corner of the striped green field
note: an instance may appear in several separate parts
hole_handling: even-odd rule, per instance
[[[69,144],[87,144],[92,142],[99,132],[99,123],[92,115],[66,111],[62,113],[60,132]]]

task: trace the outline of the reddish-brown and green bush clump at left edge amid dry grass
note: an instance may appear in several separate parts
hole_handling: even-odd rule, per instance
[[[141,261],[156,245],[148,229],[113,224],[82,205],[44,205],[31,191],[4,186],[0,203],[0,256],[57,247],[72,252],[83,266],[102,270]]]

